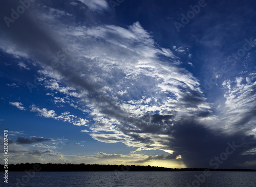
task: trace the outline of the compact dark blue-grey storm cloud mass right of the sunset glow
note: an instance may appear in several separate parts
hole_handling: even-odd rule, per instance
[[[220,157],[230,144],[239,147],[228,155],[225,161],[221,160],[223,163],[219,164],[219,168],[236,168],[239,164],[242,165],[248,161],[248,157],[251,161],[256,159],[256,155],[242,155],[255,147],[254,136],[248,136],[242,130],[233,135],[227,135],[221,130],[210,130],[191,119],[191,121],[176,124],[172,136],[174,139],[170,141],[170,148],[176,154],[182,155],[182,161],[187,167],[216,167],[213,164],[217,161],[210,165],[211,159],[215,159],[215,156]]]

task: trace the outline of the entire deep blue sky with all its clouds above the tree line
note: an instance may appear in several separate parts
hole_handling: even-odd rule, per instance
[[[255,169],[255,6],[2,1],[9,162]]]

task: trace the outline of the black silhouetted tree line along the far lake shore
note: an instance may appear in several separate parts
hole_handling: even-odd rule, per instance
[[[39,165],[39,171],[204,171],[206,168],[164,168],[156,166],[136,166],[136,165],[100,165],[100,164],[10,164],[10,171],[33,170],[35,165]],[[4,165],[0,165],[1,171],[5,171]],[[209,171],[256,171],[250,169],[208,169]]]

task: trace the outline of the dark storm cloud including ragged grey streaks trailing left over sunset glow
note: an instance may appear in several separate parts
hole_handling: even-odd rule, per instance
[[[133,137],[135,142],[148,143],[148,140],[140,137],[139,133],[131,134],[133,129],[122,129],[122,131]],[[154,133],[154,131],[151,132]],[[245,132],[246,130],[241,130],[233,135],[227,135],[221,130],[207,128],[205,125],[197,122],[194,117],[186,118],[176,122],[174,126],[169,124],[168,131],[165,133],[161,132],[162,135],[169,136],[169,143],[163,141],[162,145],[166,145],[170,150],[173,150],[173,154],[149,156],[137,163],[175,159],[178,155],[181,155],[182,161],[189,168],[215,168],[217,166],[218,168],[243,168],[245,167],[243,166],[245,162],[256,160],[256,155],[243,155],[243,153],[256,146],[254,136],[246,135]],[[227,159],[222,160],[219,158],[220,160],[218,160],[217,157],[224,156],[227,147],[230,147],[230,145],[234,145],[236,150],[230,155],[227,154]],[[237,146],[239,147],[237,148]],[[232,148],[228,150],[230,151]],[[246,167],[248,168],[249,166]]]

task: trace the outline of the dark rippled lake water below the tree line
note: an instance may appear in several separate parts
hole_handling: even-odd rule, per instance
[[[255,187],[256,172],[9,172],[4,186],[25,187],[81,187],[81,186],[205,186]],[[197,179],[196,176],[200,176]],[[3,180],[3,179],[2,179]],[[2,181],[1,181],[2,183]]]

